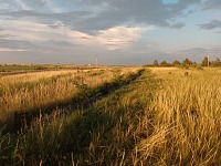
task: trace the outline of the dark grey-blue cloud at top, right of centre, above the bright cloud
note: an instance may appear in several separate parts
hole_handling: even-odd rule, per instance
[[[199,0],[198,0],[199,1]],[[126,24],[159,25],[180,29],[185,24],[171,23],[191,3],[178,2],[176,4],[164,4],[158,0],[106,0],[106,10],[95,17],[80,21],[76,28],[84,31],[98,31],[112,27]]]

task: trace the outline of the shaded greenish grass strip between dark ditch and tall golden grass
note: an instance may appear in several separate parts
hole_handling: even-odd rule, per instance
[[[69,116],[54,113],[53,118],[49,118],[50,123],[45,123],[46,120],[41,121],[40,117],[31,129],[20,135],[1,135],[1,163],[9,165],[119,163],[119,153],[133,151],[135,144],[133,131],[137,124],[135,120],[139,118],[138,115],[150,101],[150,94],[144,90],[150,91],[147,84],[151,81],[144,81],[148,74],[144,72],[116,79],[110,90],[124,86],[109,96],[104,96],[87,110],[74,112]],[[150,84],[154,86],[152,82]],[[109,148],[109,153],[106,153],[106,148]]]

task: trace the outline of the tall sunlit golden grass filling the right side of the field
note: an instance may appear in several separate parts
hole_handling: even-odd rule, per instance
[[[136,146],[138,165],[220,165],[220,69],[188,72],[155,70],[161,90],[147,108],[154,131]]]

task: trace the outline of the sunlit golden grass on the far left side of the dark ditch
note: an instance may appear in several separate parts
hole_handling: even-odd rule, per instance
[[[109,82],[117,74],[136,69],[107,68],[93,70],[45,71],[0,77],[0,120],[15,111],[44,108],[70,101],[77,92],[75,83],[91,87]]]

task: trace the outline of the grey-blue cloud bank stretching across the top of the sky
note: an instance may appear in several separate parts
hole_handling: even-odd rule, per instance
[[[76,31],[95,34],[97,31],[120,25],[157,25],[181,29],[185,23],[176,22],[185,10],[201,0],[164,3],[160,0],[3,0],[9,9],[1,15],[34,19],[49,25],[60,21]],[[40,8],[41,7],[41,8]],[[81,9],[81,11],[80,11]]]

